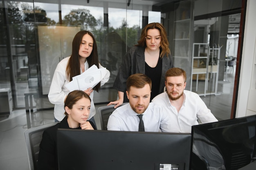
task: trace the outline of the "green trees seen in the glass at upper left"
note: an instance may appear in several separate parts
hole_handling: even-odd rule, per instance
[[[41,7],[33,7],[29,3],[20,2],[7,2],[7,22],[9,24],[10,36],[12,37],[12,44],[25,44],[27,40],[35,42],[36,26],[37,25],[58,25],[59,22],[47,18],[47,13]],[[19,8],[20,7],[20,8]],[[0,8],[0,44],[6,44],[7,33],[4,27],[4,11]],[[37,13],[37,11],[40,11]],[[27,20],[27,22],[25,22]],[[42,22],[43,21],[43,22]],[[99,52],[103,49],[106,35],[110,32],[116,32],[120,35],[123,42],[127,46],[137,44],[141,29],[139,26],[134,25],[128,27],[125,18],[118,28],[104,27],[103,18],[96,20],[88,9],[73,9],[68,15],[65,15],[62,24],[65,26],[80,26],[81,29],[91,31],[98,44]],[[102,52],[103,53],[103,52]]]

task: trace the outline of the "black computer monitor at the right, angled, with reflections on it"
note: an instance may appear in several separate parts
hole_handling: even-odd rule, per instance
[[[237,170],[256,159],[256,115],[192,126],[191,170]]]

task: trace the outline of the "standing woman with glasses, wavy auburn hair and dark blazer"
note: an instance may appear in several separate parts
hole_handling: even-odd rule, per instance
[[[154,22],[147,24],[141,31],[138,44],[133,46],[124,56],[113,87],[117,89],[119,99],[110,104],[115,108],[128,102],[126,79],[135,73],[146,74],[152,81],[151,99],[164,92],[164,75],[173,67],[173,59],[169,49],[164,26]]]

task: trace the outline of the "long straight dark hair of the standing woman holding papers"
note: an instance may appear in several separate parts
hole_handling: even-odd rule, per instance
[[[72,54],[67,63],[66,74],[70,82],[72,81],[72,77],[76,75],[80,75],[80,63],[79,63],[79,49],[82,42],[82,38],[85,34],[89,34],[93,39],[92,53],[89,57],[86,58],[89,67],[95,64],[99,68],[99,59],[98,59],[98,51],[97,51],[97,43],[90,31],[79,31],[74,36],[72,42]],[[101,83],[99,82],[93,89],[99,92],[101,87]]]

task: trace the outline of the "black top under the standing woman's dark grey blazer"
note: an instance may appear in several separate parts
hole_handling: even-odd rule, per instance
[[[145,62],[145,74],[152,81],[152,90],[150,96],[151,102],[151,100],[159,94],[159,87],[162,75],[162,59],[159,57],[157,65],[153,68],[148,66],[148,64]]]

